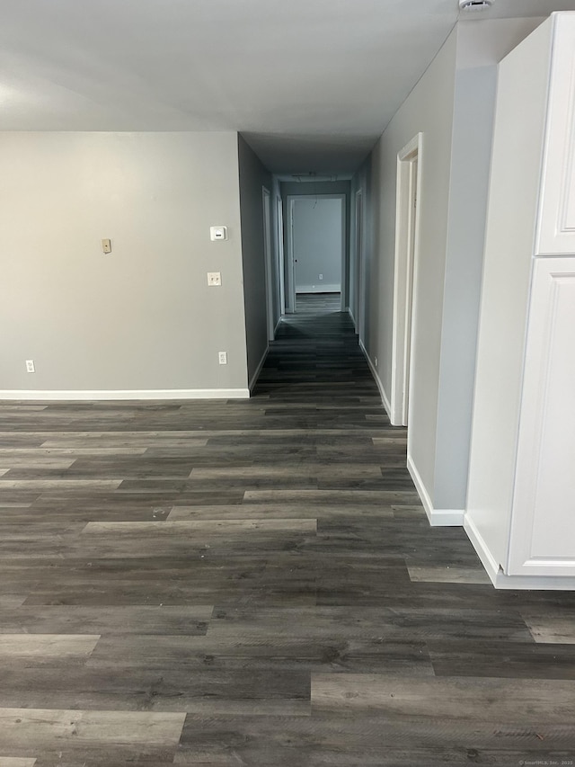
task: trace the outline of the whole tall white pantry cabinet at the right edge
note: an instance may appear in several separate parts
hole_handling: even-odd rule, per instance
[[[575,13],[500,63],[465,530],[502,588],[575,589]]]

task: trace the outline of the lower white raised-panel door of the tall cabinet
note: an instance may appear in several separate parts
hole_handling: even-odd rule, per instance
[[[535,259],[509,575],[575,575],[575,256]]]

